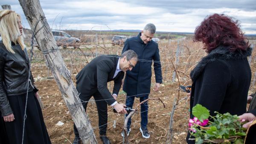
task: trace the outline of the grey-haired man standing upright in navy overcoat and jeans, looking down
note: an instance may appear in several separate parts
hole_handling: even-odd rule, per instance
[[[162,83],[162,70],[160,63],[159,49],[156,42],[152,40],[156,32],[156,27],[152,23],[148,23],[137,37],[128,38],[125,41],[122,52],[128,49],[134,50],[138,55],[138,63],[129,72],[126,72],[123,90],[127,93],[126,106],[132,107],[135,96],[140,98],[140,102],[148,98],[151,88],[151,65],[154,60],[155,87],[154,91],[160,88]],[[148,103],[141,105],[141,122],[140,131],[143,138],[149,138],[147,129],[148,124]],[[131,118],[128,121],[128,134],[130,132]],[[123,135],[123,133],[122,133]]]

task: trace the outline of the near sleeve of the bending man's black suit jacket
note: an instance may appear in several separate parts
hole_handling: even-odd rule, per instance
[[[114,65],[113,65],[114,66]],[[113,69],[111,62],[102,60],[97,64],[97,85],[99,93],[107,101],[108,105],[113,104],[116,100],[108,90],[108,74]]]

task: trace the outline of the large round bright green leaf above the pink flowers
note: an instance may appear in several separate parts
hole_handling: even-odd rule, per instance
[[[209,110],[201,104],[196,104],[195,107],[192,108],[192,114],[201,122],[209,118],[210,115]]]

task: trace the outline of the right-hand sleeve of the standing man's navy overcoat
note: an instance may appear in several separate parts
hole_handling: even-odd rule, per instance
[[[162,83],[162,69],[161,69],[161,63],[160,63],[160,55],[159,55],[159,49],[157,45],[156,52],[154,54],[153,60],[156,61],[154,62],[154,72],[155,72],[155,78],[156,78],[156,83]]]

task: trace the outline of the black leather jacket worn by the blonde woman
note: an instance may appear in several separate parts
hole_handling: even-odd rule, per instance
[[[20,45],[12,43],[15,54],[9,52],[0,41],[0,110],[2,116],[12,114],[12,108],[8,101],[8,96],[21,95],[27,92],[29,77],[29,57],[26,49],[22,50]],[[34,89],[32,83],[29,84],[29,92]]]

